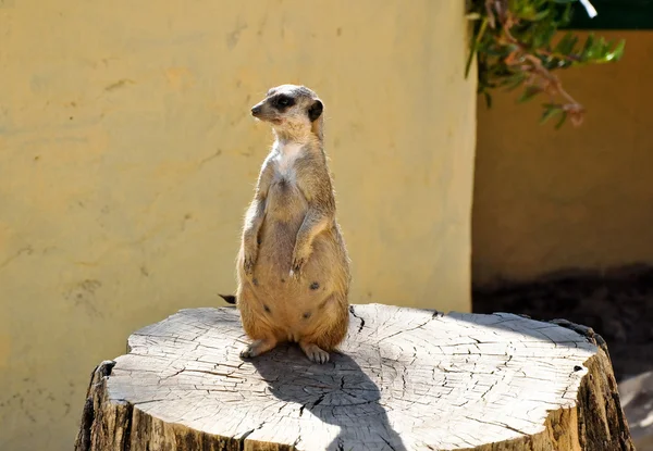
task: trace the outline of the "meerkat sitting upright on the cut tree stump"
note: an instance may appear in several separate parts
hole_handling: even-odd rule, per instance
[[[312,90],[295,85],[270,89],[251,108],[275,139],[245,215],[236,296],[223,297],[254,340],[245,359],[289,341],[325,363],[347,334],[349,258],[335,217],[323,110]]]

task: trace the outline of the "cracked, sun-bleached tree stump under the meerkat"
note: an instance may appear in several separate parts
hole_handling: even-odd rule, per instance
[[[76,450],[634,450],[605,343],[527,317],[352,306],[342,353],[251,361],[233,308],[183,310],[93,376]]]

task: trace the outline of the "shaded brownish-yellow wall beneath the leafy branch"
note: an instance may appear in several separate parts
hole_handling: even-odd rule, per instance
[[[560,72],[587,108],[580,128],[538,124],[540,103],[479,103],[473,280],[653,263],[653,33],[615,64]],[[545,99],[543,99],[545,101]]]

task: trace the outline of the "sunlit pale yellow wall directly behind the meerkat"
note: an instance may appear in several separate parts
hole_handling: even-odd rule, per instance
[[[0,1],[0,449],[71,449],[95,364],[223,304],[273,85],[324,99],[352,301],[468,311],[465,33],[463,1]]]

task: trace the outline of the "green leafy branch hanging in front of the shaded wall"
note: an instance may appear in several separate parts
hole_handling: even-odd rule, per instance
[[[626,42],[606,41],[593,34],[584,42],[579,42],[578,36],[571,32],[556,39],[558,28],[570,23],[572,5],[577,1],[468,1],[468,16],[476,23],[466,76],[476,54],[478,91],[485,97],[488,108],[492,105],[492,89],[522,87],[519,102],[529,101],[538,95],[549,98],[542,105],[541,123],[556,116],[556,128],[567,117],[575,126],[582,123],[583,107],[564,89],[553,72],[618,61]],[[586,8],[591,8],[588,0],[580,1]]]

